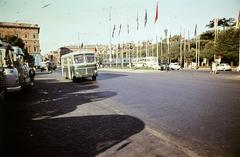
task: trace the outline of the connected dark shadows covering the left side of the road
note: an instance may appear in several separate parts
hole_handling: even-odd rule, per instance
[[[96,92],[95,88],[98,86],[94,82],[38,80],[33,88],[9,94],[1,103],[4,137],[0,153],[93,157],[144,129],[141,120],[127,115],[55,117],[117,94]]]

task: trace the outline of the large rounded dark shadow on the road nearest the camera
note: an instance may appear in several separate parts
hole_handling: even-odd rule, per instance
[[[94,157],[143,129],[141,120],[126,115],[37,120],[18,132],[14,151],[25,157]]]

